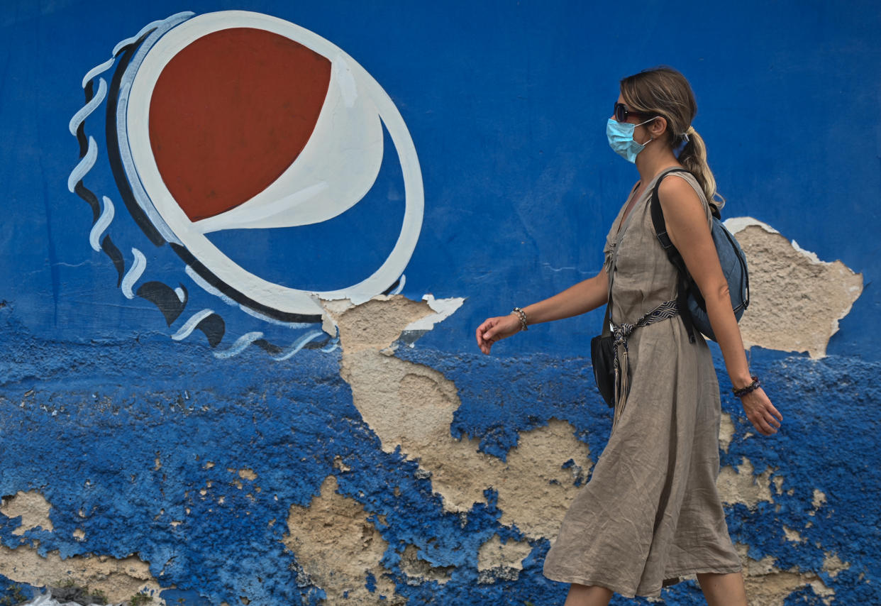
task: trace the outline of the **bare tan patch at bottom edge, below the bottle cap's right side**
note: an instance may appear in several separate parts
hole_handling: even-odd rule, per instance
[[[309,506],[291,506],[285,547],[324,590],[328,604],[406,603],[380,564],[389,543],[367,517],[358,501],[337,493],[333,476],[324,480]],[[365,587],[368,573],[376,579],[374,592]]]

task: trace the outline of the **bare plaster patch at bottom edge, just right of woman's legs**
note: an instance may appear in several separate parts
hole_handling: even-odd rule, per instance
[[[744,564],[744,585],[750,606],[783,606],[789,594],[806,585],[810,585],[824,603],[834,601],[835,591],[826,587],[816,573],[781,571],[774,566],[772,556],[757,561],[746,555],[749,549],[746,545],[737,544],[736,547]]]

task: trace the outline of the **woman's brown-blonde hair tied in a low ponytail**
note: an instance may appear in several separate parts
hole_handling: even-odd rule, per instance
[[[715,178],[707,164],[707,145],[692,127],[698,104],[685,76],[666,66],[643,70],[621,80],[621,96],[633,112],[663,116],[667,121],[666,143],[674,149],[685,143],[679,152],[679,162],[698,180],[707,201],[721,210],[725,198],[716,191]]]

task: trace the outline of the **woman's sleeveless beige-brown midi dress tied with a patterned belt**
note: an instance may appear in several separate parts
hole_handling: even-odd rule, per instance
[[[709,225],[698,182],[686,173],[666,177],[677,178],[700,196]],[[606,238],[616,325],[676,299],[676,268],[649,211],[656,179],[621,225],[624,204]],[[654,597],[685,575],[740,571],[715,484],[719,385],[707,343],[697,330],[695,338],[689,343],[678,316],[628,337],[621,373],[629,385],[618,397],[609,443],[544,560],[548,579]]]

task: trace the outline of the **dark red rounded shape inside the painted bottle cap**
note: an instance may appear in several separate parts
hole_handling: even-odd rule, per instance
[[[329,80],[326,57],[250,27],[209,33],[172,57],[150,100],[150,144],[191,221],[247,202],[291,166]]]

